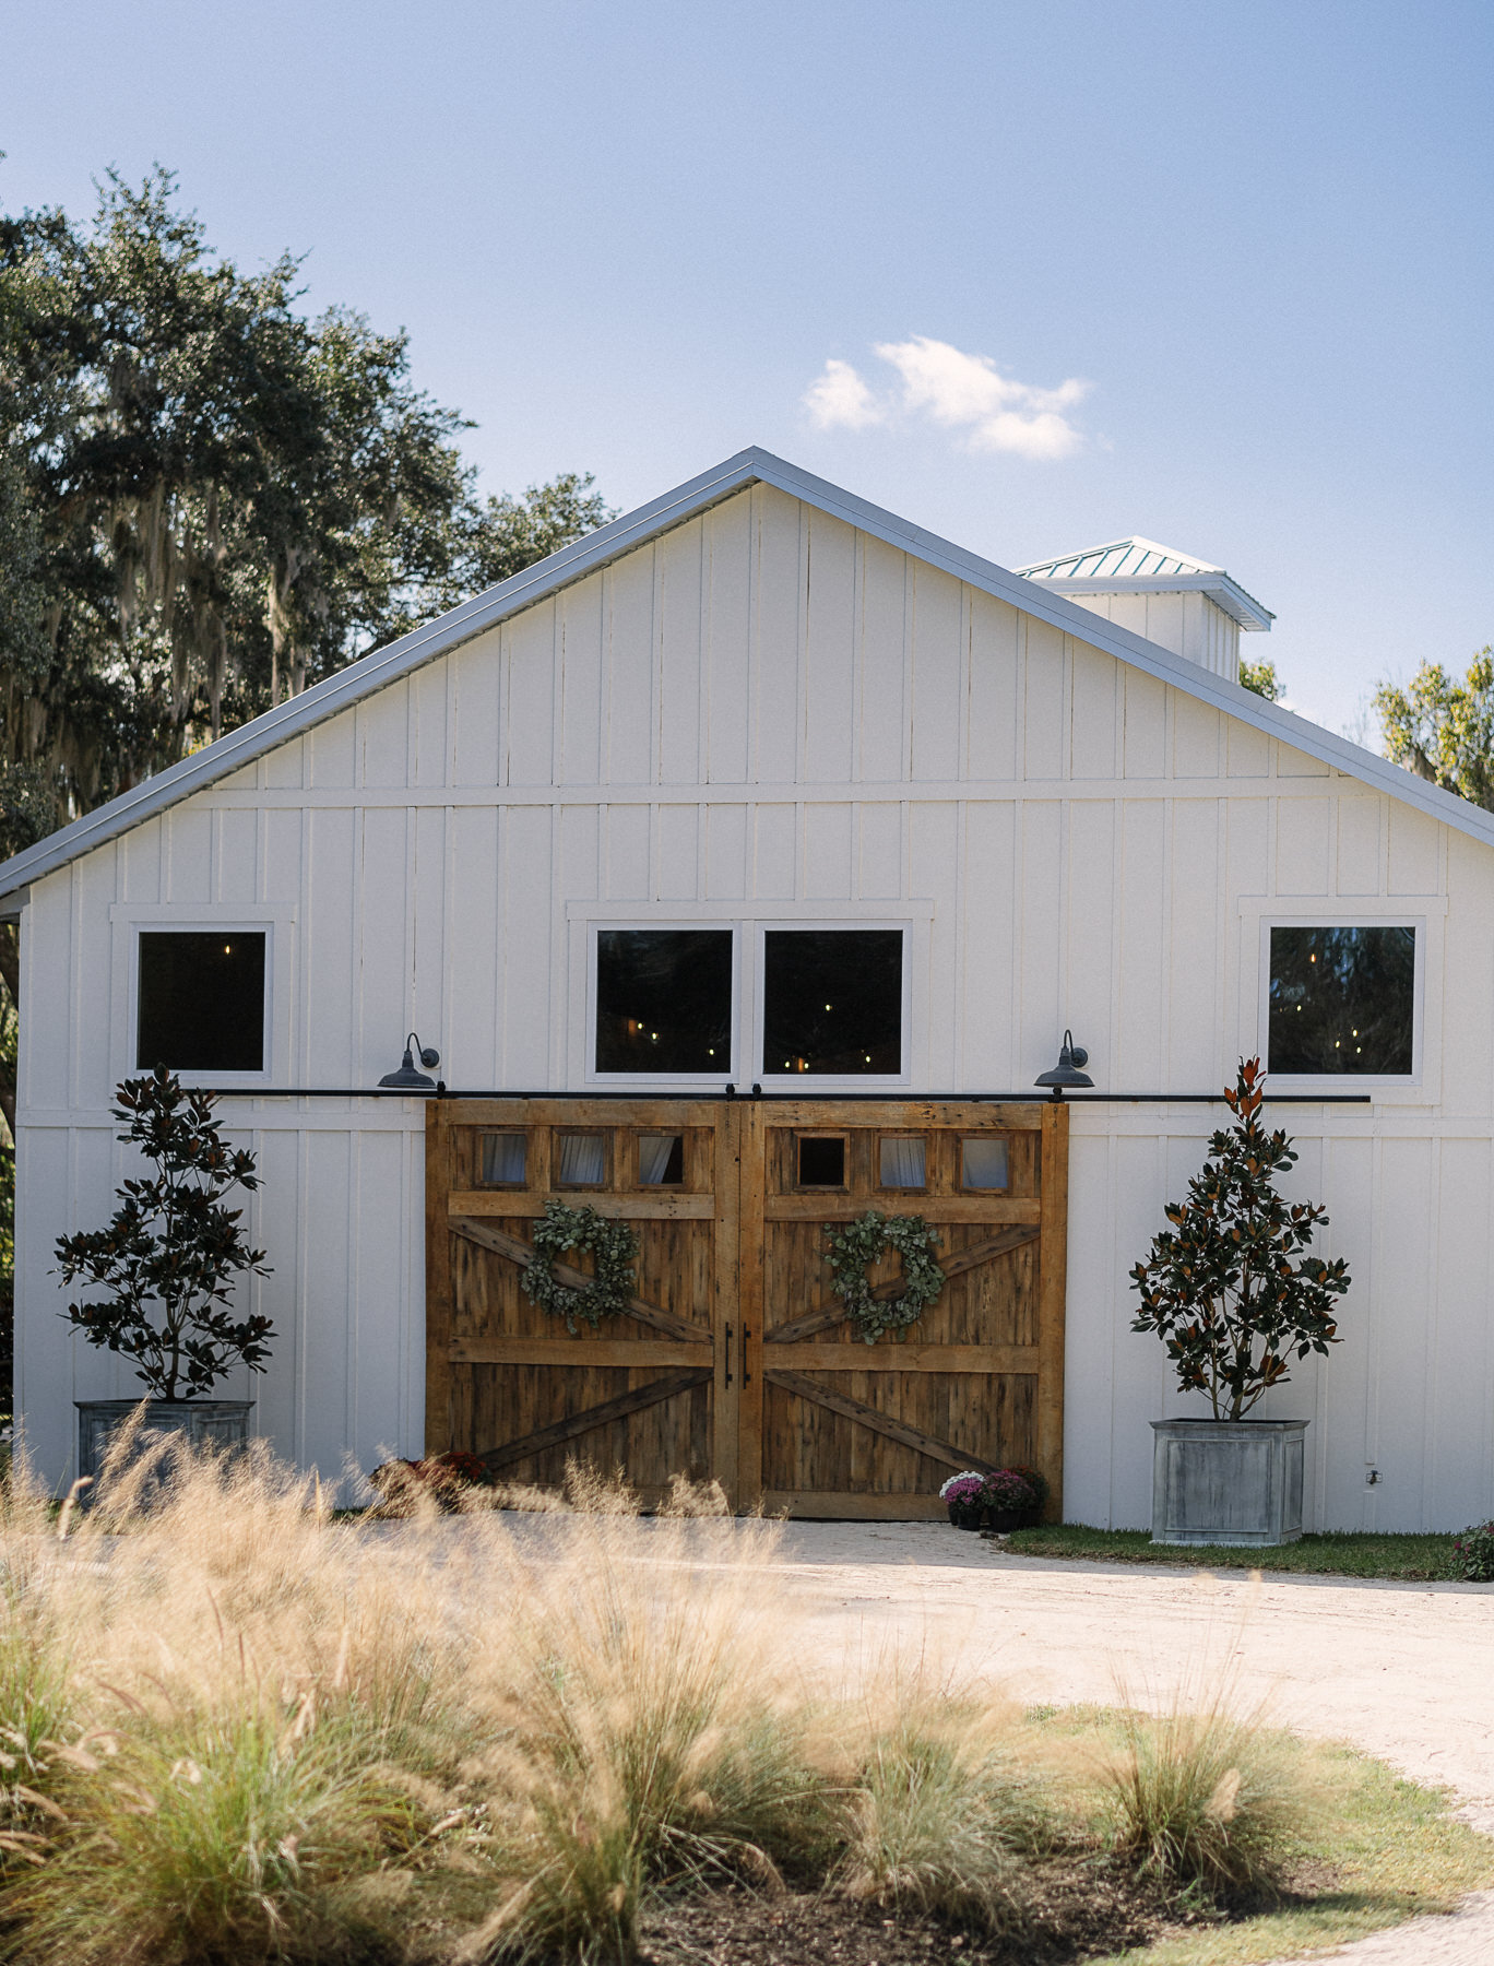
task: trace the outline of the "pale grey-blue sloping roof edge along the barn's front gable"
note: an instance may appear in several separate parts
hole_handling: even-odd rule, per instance
[[[1402,804],[1417,806],[1433,820],[1441,820],[1461,834],[1494,845],[1494,814],[1484,812],[1482,806],[1472,806],[1466,798],[1443,792],[1439,786],[1415,779],[1409,771],[1390,765],[1372,751],[1360,749],[1360,745],[1350,743],[1347,737],[1325,731],[1292,710],[1282,710],[1280,704],[1268,704],[1264,696],[1254,696],[1236,682],[1225,682],[1223,676],[1211,674],[1207,668],[1189,663],[1181,655],[1174,655],[1170,649],[1160,649],[1154,641],[1132,635],[1130,629],[1105,621],[1087,607],[1077,607],[1062,594],[1052,592],[1052,586],[1044,580],[1008,572],[1005,566],[983,560],[965,547],[955,547],[948,539],[940,539],[938,533],[926,533],[920,525],[898,519],[896,513],[883,511],[881,505],[871,505],[851,492],[841,492],[839,486],[832,486],[824,478],[800,470],[796,464],[786,464],[767,450],[751,448],[739,450],[714,470],[702,472],[700,478],[676,486],[674,492],[639,505],[637,511],[613,519],[611,525],[588,533],[574,547],[564,547],[546,560],[527,566],[511,580],[503,580],[486,594],[478,594],[460,607],[452,607],[450,613],[427,621],[409,635],[401,635],[387,649],[375,649],[374,655],[350,663],[348,668],[338,670],[336,676],[328,676],[326,682],[318,682],[316,688],[293,696],[275,710],[265,710],[252,723],[244,723],[202,751],[193,751],[179,765],[157,773],[153,779],[145,779],[144,784],[122,792],[106,806],[85,814],[85,818],[75,820],[47,839],[39,839],[26,853],[16,853],[14,859],[0,865],[0,906],[12,902],[8,912],[14,914],[24,889],[31,881],[41,881],[59,867],[67,867],[81,853],[90,853],[94,847],[106,845],[132,826],[155,818],[157,812],[165,812],[193,792],[201,792],[204,786],[228,777],[228,773],[242,771],[244,765],[252,765],[265,751],[273,751],[291,737],[299,737],[303,731],[313,729],[313,725],[326,722],[326,718],[334,718],[375,690],[385,688],[385,684],[401,680],[411,670],[432,663],[440,655],[448,655],[499,621],[507,621],[511,615],[533,607],[535,602],[546,600],[560,588],[584,580],[609,560],[647,545],[676,525],[684,525],[688,519],[708,511],[712,505],[719,505],[721,499],[753,484],[775,486],[788,497],[812,505],[816,511],[843,519],[873,539],[910,552],[926,564],[953,574],[955,580],[963,580],[983,594],[1020,607],[1038,621],[1048,621],[1052,627],[1062,629],[1062,633],[1073,635],[1077,641],[1087,641],[1093,649],[1103,649],[1107,655],[1117,657],[1117,661],[1156,676],[1158,682],[1168,682],[1176,690],[1183,690],[1183,694],[1195,696],[1199,702],[1211,704],[1215,710],[1223,710],[1227,716],[1238,718],[1242,723],[1252,723],[1270,737],[1280,737],[1282,743],[1290,743],[1297,751],[1321,759],[1321,763],[1331,765],[1335,771],[1360,779],[1364,784],[1374,786],[1376,792],[1386,792],[1392,798],[1400,798]]]

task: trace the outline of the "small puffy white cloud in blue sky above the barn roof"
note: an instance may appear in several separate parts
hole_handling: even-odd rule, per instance
[[[989,356],[969,356],[928,334],[879,342],[877,354],[902,381],[896,407],[961,431],[971,450],[1052,462],[1071,456],[1083,442],[1069,411],[1089,393],[1087,381],[1069,377],[1056,389],[1038,389],[1003,376]],[[863,431],[885,423],[892,407],[867,387],[849,362],[826,362],[804,403],[822,431]]]

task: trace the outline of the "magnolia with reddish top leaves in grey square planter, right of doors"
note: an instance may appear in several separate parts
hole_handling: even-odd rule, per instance
[[[1276,1176],[1293,1166],[1284,1132],[1260,1121],[1260,1060],[1240,1062],[1225,1093],[1235,1115],[1209,1138],[1209,1158],[1168,1205],[1170,1229],[1130,1272],[1142,1307],[1132,1331],[1154,1331],[1183,1392],[1211,1417],[1154,1419],[1152,1541],[1293,1543],[1301,1535],[1305,1419],[1248,1419],[1290,1378],[1293,1359],[1339,1343],[1343,1256],[1311,1254],[1327,1209],[1286,1201]]]

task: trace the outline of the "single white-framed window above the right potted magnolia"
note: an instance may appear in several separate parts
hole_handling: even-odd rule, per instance
[[[1262,908],[1256,1050],[1272,1085],[1425,1097],[1435,930],[1362,904]]]

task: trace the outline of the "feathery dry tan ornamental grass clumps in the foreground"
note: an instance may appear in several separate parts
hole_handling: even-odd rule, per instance
[[[633,1954],[651,1895],[710,1879],[1003,1933],[1034,1858],[1095,1848],[1077,1785],[995,1691],[955,1697],[922,1661],[835,1695],[806,1669],[775,1524],[688,1488],[641,1520],[580,1474],[560,1504],[517,1500],[338,1522],[263,1453],[177,1455],[122,1461],[53,1520],[20,1467],[4,1956],[600,1966]],[[1223,1787],[1203,1815],[1227,1801],[1235,1850],[1258,1799],[1248,1773]],[[1262,1811],[1260,1846],[1276,1834]]]

